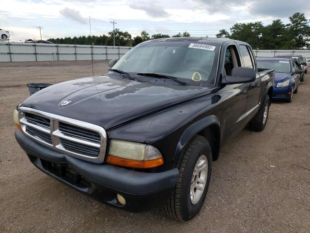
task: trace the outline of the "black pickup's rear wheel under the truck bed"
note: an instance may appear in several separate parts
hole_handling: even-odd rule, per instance
[[[254,118],[248,123],[250,130],[260,132],[266,126],[268,115],[269,115],[269,105],[270,100],[269,96],[266,96],[266,99],[263,102],[262,108],[259,112],[254,116]]]

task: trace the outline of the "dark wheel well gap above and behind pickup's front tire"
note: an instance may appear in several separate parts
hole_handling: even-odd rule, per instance
[[[209,141],[212,150],[212,160],[216,161],[218,159],[219,147],[220,147],[219,127],[216,124],[213,124],[203,129],[197,134],[205,137]]]

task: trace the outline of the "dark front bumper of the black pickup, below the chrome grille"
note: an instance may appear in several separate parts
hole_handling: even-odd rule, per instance
[[[44,147],[18,130],[15,137],[31,163],[47,175],[95,200],[128,211],[141,212],[162,206],[178,180],[177,168],[146,173],[109,164],[94,164]],[[117,200],[117,194],[124,197],[125,205]]]

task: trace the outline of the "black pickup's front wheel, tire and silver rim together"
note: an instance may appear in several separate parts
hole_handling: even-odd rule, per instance
[[[212,152],[208,140],[196,135],[178,162],[179,178],[164,206],[165,213],[188,221],[202,209],[211,178]]]

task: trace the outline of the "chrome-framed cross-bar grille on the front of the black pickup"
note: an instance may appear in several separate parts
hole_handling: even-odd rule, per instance
[[[19,122],[41,144],[93,163],[104,161],[107,134],[102,127],[26,107],[19,109]]]

